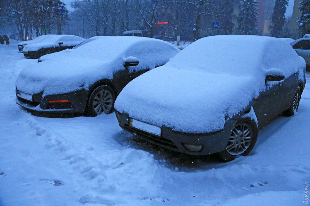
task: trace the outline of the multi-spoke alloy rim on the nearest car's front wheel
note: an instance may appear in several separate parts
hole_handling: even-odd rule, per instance
[[[231,155],[241,155],[250,147],[252,135],[253,132],[247,124],[236,125],[228,140],[227,152]]]

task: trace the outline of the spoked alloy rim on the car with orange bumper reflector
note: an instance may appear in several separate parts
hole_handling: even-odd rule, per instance
[[[102,89],[95,94],[93,107],[96,114],[108,114],[113,105],[113,96],[110,91]]]

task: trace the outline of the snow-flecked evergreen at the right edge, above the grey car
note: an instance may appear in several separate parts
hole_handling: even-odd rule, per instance
[[[302,29],[303,34],[308,34],[310,33],[310,0],[301,1],[298,8],[301,13],[298,22],[303,23],[302,26],[299,26],[299,29]]]

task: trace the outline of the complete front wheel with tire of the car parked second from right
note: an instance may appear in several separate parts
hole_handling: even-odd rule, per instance
[[[107,85],[95,88],[87,102],[87,114],[95,117],[99,114],[110,114],[114,111],[115,93]]]

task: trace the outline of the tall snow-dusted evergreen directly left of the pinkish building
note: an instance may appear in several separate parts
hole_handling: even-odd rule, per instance
[[[257,1],[243,0],[243,6],[238,16],[238,30],[241,34],[256,35]]]

